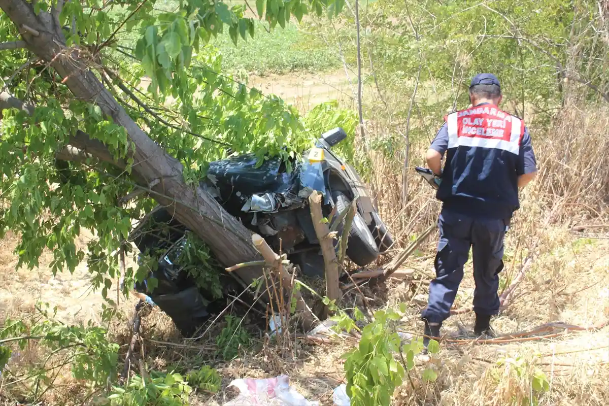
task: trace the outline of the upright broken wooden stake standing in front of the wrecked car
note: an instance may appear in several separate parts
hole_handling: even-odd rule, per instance
[[[337,300],[342,297],[339,286],[339,262],[334,251],[333,237],[327,222],[323,222],[322,195],[314,191],[309,196],[309,206],[311,208],[311,218],[315,227],[315,234],[322,248],[323,264],[326,268],[326,296],[330,300]]]

